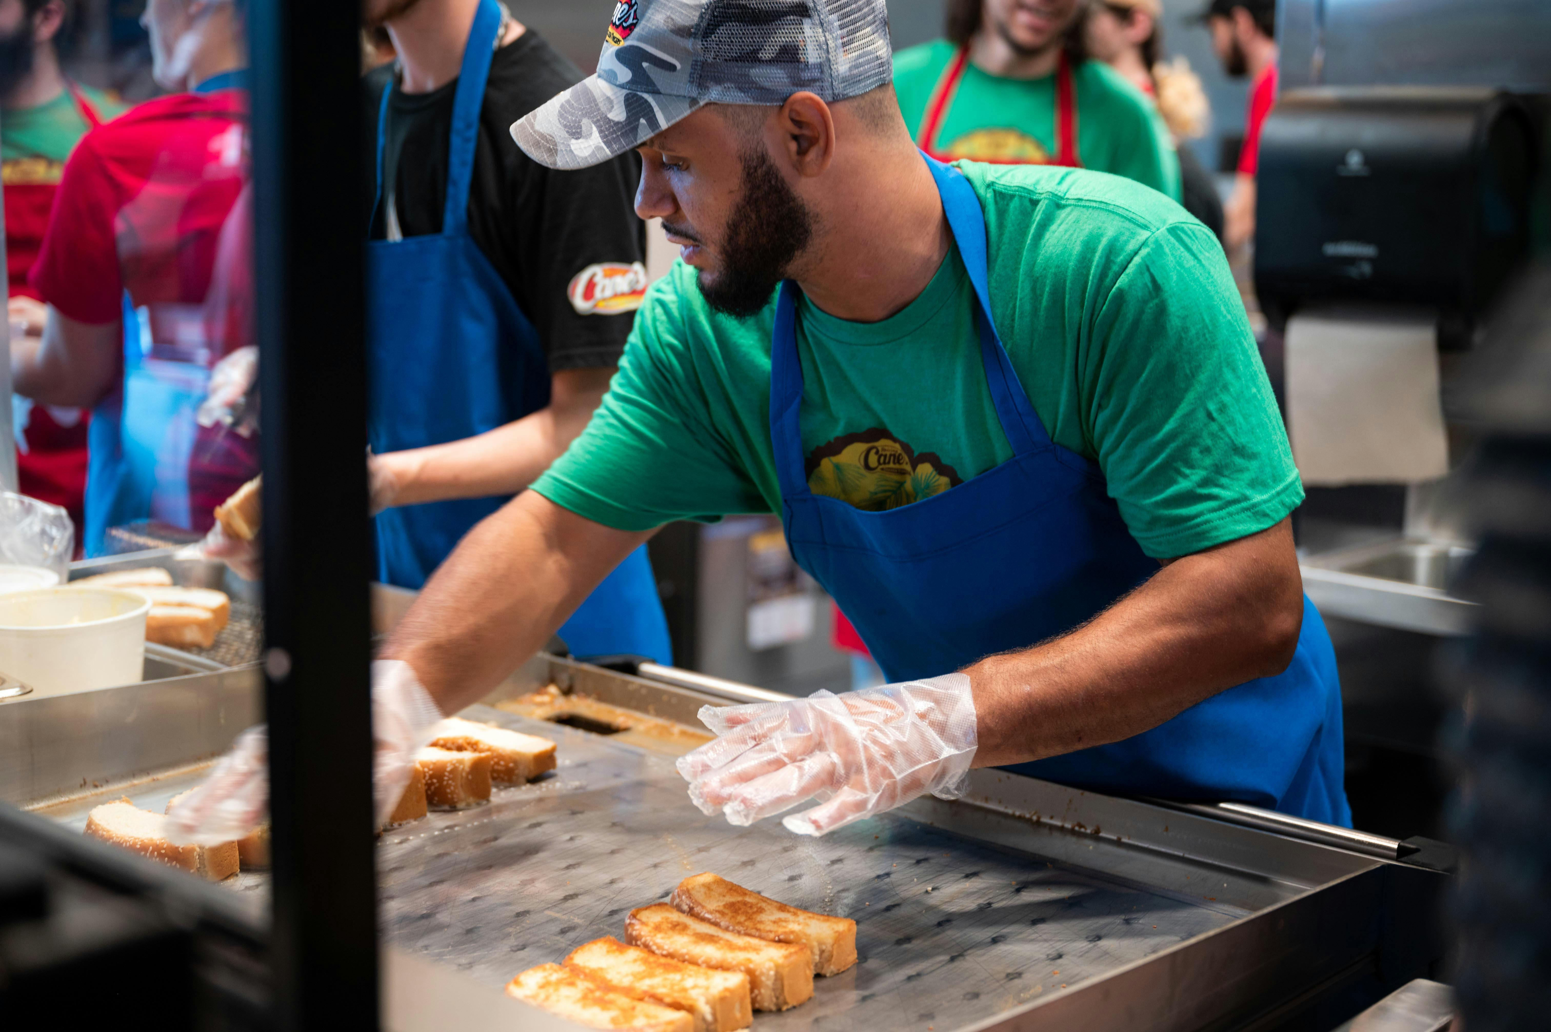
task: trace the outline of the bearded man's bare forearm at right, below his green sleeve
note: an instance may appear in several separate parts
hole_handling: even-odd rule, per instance
[[[1140,734],[1222,689],[1280,674],[1303,625],[1292,531],[1174,560],[1078,630],[965,669],[976,767]]]

